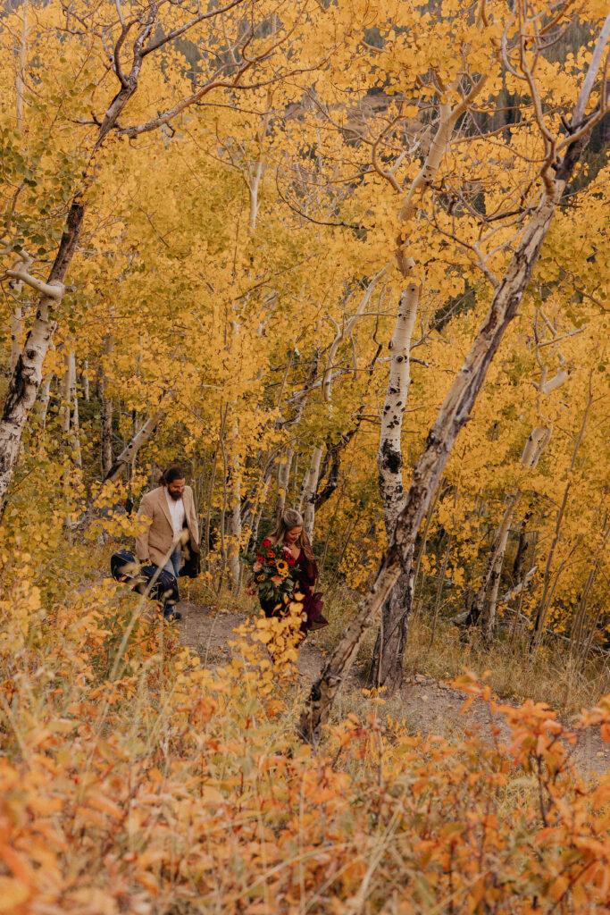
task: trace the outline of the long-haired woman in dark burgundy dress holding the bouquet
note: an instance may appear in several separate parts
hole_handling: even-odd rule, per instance
[[[309,538],[303,530],[302,515],[298,511],[294,511],[294,509],[284,511],[275,530],[269,535],[269,540],[271,540],[272,544],[284,544],[286,549],[293,554],[294,593],[305,595],[303,600],[303,632],[312,632],[327,626],[328,620],[322,615],[322,594],[314,590],[317,581],[317,565]],[[260,568],[261,565],[255,563],[253,570],[258,572]],[[278,578],[275,583],[279,584],[280,580]],[[272,581],[275,581],[275,578]],[[280,612],[274,601],[262,600],[261,606],[266,617],[273,617]]]

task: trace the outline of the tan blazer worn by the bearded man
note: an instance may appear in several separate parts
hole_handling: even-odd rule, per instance
[[[198,553],[199,526],[193,490],[191,490],[190,486],[185,486],[182,493],[182,501],[185,511],[185,523],[190,535],[189,547],[193,552]],[[174,528],[169,508],[167,507],[165,486],[157,486],[155,490],[150,490],[143,496],[138,510],[138,518],[149,519],[151,523],[143,533],[138,534],[135,538],[135,554],[141,563],[150,560],[155,565],[164,565],[167,553],[174,540]]]

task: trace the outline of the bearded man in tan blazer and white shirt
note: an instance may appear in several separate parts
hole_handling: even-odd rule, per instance
[[[155,490],[147,492],[138,511],[138,518],[150,520],[149,527],[135,539],[135,554],[142,565],[155,565],[173,576],[173,603],[179,600],[177,577],[198,575],[199,528],[193,490],[186,485],[184,470],[177,464],[168,467]],[[184,546],[183,546],[184,544]],[[187,554],[184,566],[183,548]],[[166,619],[181,619],[174,606],[166,606]]]

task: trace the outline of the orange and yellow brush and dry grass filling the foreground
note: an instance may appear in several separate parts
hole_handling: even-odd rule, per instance
[[[2,596],[0,911],[607,910],[610,780],[566,755],[610,738],[607,698],[573,735],[499,706],[508,746],[412,737],[372,699],[312,749],[290,620],[247,621],[212,671],[143,606],[109,582]]]

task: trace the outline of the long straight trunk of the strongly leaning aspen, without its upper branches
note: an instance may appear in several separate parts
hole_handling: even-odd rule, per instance
[[[610,18],[610,17],[609,17]],[[585,81],[586,82],[586,81]],[[591,89],[589,89],[591,92]],[[581,99],[577,109],[581,105]],[[581,126],[579,117],[574,129]],[[399,515],[388,550],[383,555],[378,575],[369,595],[360,605],[336,649],[326,660],[322,673],[312,685],[299,719],[298,733],[302,739],[316,743],[325,724],[337,690],[346,677],[358,652],[364,632],[390,594],[401,575],[401,568],[412,556],[412,548],[423,517],[428,511],[434,491],[439,484],[447,459],[459,431],[466,425],[476,396],[481,390],[489,363],[498,350],[510,321],[517,314],[521,296],[540,254],[551,219],[573,168],[583,153],[588,133],[583,133],[567,147],[554,179],[546,176],[545,189],[539,207],[516,244],[504,279],[496,286],[491,306],[483,325],[476,333],[466,361],[458,372],[433,428],[426,440],[423,454],[413,469],[411,486]]]

